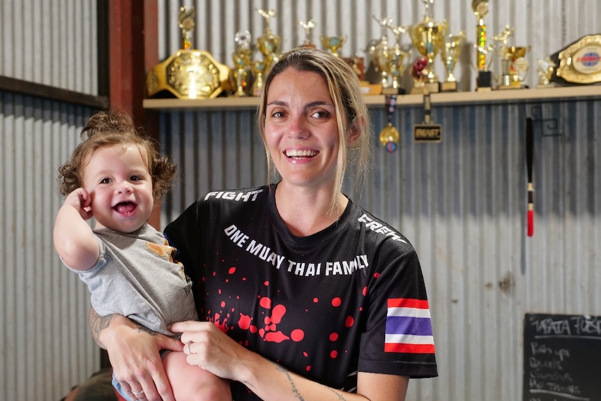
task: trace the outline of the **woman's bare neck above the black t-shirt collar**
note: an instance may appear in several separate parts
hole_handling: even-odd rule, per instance
[[[330,227],[347,207],[349,199],[339,194],[337,207],[330,213],[331,190],[298,190],[278,184],[275,206],[280,218],[296,236],[310,236]]]

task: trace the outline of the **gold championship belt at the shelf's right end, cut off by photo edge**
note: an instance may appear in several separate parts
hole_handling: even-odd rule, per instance
[[[558,64],[556,77],[552,81],[568,84],[597,84],[601,82],[601,34],[583,36],[551,60]]]

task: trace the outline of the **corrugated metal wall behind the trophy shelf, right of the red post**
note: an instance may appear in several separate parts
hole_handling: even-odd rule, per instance
[[[282,50],[302,42],[297,20],[313,19],[319,36],[347,35],[342,55],[380,35],[376,17],[411,24],[422,1],[196,1],[195,47],[231,65],[234,34],[264,29],[255,8],[278,11],[272,29]],[[180,47],[179,3],[164,11],[160,54]],[[489,32],[515,27],[516,44],[532,45],[536,59],[599,31],[596,0],[490,1]],[[434,16],[451,31],[466,29],[471,48],[476,18],[471,1],[435,1]],[[175,27],[174,27],[175,26]],[[392,35],[389,40],[392,40]],[[409,40],[409,38],[405,38]],[[468,54],[469,53],[469,54]],[[473,89],[473,54],[455,72]],[[437,72],[443,75],[441,66]],[[532,68],[528,75],[538,81]],[[418,106],[399,109],[399,149],[387,153],[375,133],[386,123],[372,107],[375,162],[359,199],[398,227],[416,246],[431,298],[440,377],[413,380],[408,400],[521,400],[525,312],[601,314],[601,87],[600,96],[564,101],[435,105],[440,144],[411,137],[423,121]],[[526,117],[535,127],[535,234],[526,236]],[[178,162],[181,183],[162,208],[169,222],[208,190],[265,182],[264,150],[254,109],[162,112],[163,150]],[[353,188],[347,186],[353,193]]]

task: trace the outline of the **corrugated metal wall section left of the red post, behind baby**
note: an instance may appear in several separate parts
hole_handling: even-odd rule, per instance
[[[96,1],[1,0],[0,75],[97,95]],[[100,354],[54,252],[57,169],[91,110],[0,91],[0,398],[59,400]]]

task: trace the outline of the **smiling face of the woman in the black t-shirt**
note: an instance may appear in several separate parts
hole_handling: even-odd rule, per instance
[[[321,75],[287,68],[266,100],[265,140],[282,184],[331,188],[339,149],[335,107]]]

